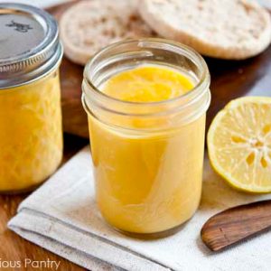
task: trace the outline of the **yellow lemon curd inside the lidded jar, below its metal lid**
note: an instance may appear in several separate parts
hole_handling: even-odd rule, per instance
[[[61,163],[61,91],[58,72],[0,90],[0,192],[23,191]]]

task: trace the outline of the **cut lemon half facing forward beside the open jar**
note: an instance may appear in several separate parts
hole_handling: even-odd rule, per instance
[[[271,98],[237,98],[208,132],[210,164],[246,192],[271,192]]]

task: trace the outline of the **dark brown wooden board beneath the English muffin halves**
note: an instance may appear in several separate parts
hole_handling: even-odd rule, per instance
[[[57,19],[70,4],[49,9]],[[211,76],[211,104],[207,125],[229,100],[241,96],[271,97],[271,46],[255,58],[246,61],[222,61],[205,58]],[[87,116],[81,106],[83,67],[64,57],[61,64],[62,112],[64,131],[89,136]]]

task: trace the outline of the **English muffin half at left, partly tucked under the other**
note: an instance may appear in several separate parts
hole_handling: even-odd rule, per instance
[[[61,40],[70,61],[86,64],[101,48],[154,32],[137,12],[138,0],[91,0],[72,5],[61,16]]]

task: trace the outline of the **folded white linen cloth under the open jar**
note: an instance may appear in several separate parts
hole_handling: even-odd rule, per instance
[[[19,206],[8,227],[33,243],[90,270],[270,270],[271,232],[222,253],[200,238],[214,213],[270,195],[235,192],[205,158],[200,209],[168,238],[141,240],[111,229],[98,213],[89,147],[76,154]]]

